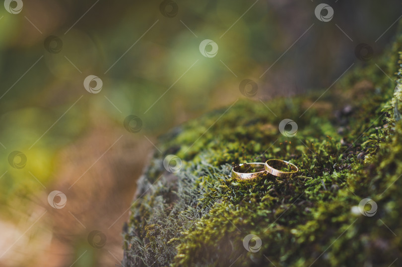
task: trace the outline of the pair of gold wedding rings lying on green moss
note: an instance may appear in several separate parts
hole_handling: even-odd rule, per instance
[[[285,160],[267,160],[263,162],[242,163],[232,168],[232,177],[249,180],[258,177],[266,172],[281,178],[290,177],[291,174],[299,171],[299,168]]]

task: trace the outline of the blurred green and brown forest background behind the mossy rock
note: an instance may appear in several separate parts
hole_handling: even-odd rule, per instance
[[[307,0],[22,1],[17,14],[0,6],[2,266],[119,264],[156,136],[246,98],[244,79],[263,105],[326,89],[353,62],[375,67],[355,48],[382,53],[401,15],[397,0],[328,1],[330,22]],[[205,39],[216,56],[200,53]],[[88,75],[102,80],[98,94],[85,90]],[[129,115],[142,121],[139,132],[125,129]],[[23,168],[9,163],[13,151],[26,156]],[[53,190],[66,194],[65,208],[49,206]],[[101,249],[88,244],[93,229],[107,236]]]

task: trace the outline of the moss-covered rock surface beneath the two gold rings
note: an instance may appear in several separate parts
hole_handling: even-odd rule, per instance
[[[123,265],[401,265],[401,51],[399,31],[386,54],[354,64],[325,94],[239,100],[163,136],[138,181]],[[295,136],[279,132],[285,118]],[[166,170],[167,155],[180,171]],[[231,178],[232,165],[268,159],[299,172]],[[366,198],[374,215],[358,208]],[[262,241],[257,252],[243,245],[249,234]]]

